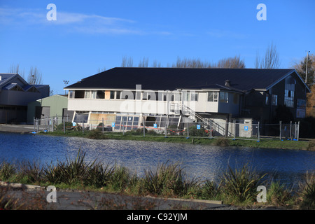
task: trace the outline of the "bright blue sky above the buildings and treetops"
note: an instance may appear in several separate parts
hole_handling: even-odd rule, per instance
[[[48,3],[57,20],[48,21]],[[259,3],[267,20],[258,21]],[[31,66],[55,94],[69,84],[147,57],[162,66],[177,57],[218,62],[239,55],[253,68],[256,52],[268,44],[279,52],[281,68],[315,53],[315,1],[7,1],[0,0],[0,73]]]

